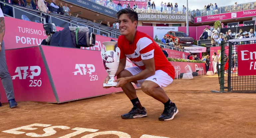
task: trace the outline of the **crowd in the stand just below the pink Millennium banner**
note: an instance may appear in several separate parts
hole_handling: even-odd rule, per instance
[[[200,39],[211,39],[212,46],[220,46],[221,41],[225,40],[228,41],[229,39],[243,39],[243,38],[251,38],[254,37],[253,29],[250,29],[249,33],[246,31],[243,32],[242,29],[239,30],[234,37],[232,37],[231,30],[228,30],[225,34],[220,33],[220,28],[214,28],[211,26],[210,28],[205,28],[203,30]]]

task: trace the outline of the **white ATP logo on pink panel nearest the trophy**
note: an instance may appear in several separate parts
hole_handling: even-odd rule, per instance
[[[95,67],[92,64],[75,64],[75,69],[77,69],[77,71],[72,72],[74,75],[77,75],[78,73],[80,75],[91,75],[92,72],[95,72]]]

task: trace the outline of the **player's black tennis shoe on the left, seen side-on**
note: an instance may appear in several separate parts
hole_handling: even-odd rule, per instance
[[[147,112],[145,107],[143,107],[142,109],[139,109],[136,106],[133,106],[133,108],[128,113],[121,115],[121,118],[133,119],[133,118],[146,117],[146,116],[147,116]]]

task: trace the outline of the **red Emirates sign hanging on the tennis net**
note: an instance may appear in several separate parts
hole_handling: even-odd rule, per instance
[[[256,44],[237,46],[238,76],[256,75]]]

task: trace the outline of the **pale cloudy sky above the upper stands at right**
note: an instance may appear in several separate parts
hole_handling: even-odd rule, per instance
[[[172,2],[173,5],[175,5],[175,3],[178,3],[178,8],[179,11],[182,10],[182,6],[184,5],[185,7],[187,7],[187,0],[151,0],[152,2],[155,2],[157,9],[160,10],[160,3],[163,1],[163,3],[168,3],[168,2]],[[223,7],[223,6],[229,6],[229,5],[234,5],[235,2],[237,2],[237,4],[243,4],[243,3],[249,3],[249,2],[255,2],[255,0],[188,0],[189,2],[189,9],[191,10],[202,10],[204,5],[207,6],[207,4],[212,3],[214,6],[214,3],[217,4],[218,7]]]

